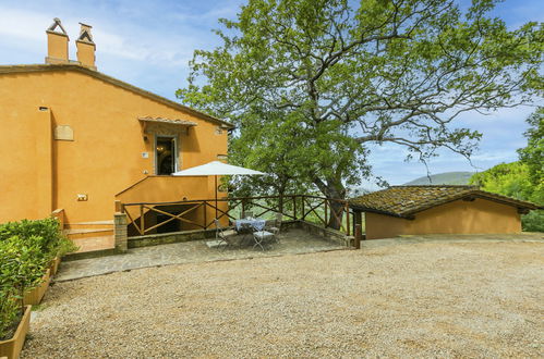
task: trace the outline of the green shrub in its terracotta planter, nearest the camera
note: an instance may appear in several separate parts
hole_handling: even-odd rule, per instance
[[[45,263],[39,246],[17,236],[0,242],[0,357],[19,358],[32,308],[23,297],[40,283]]]

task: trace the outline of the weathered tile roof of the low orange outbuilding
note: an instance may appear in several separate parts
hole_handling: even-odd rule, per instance
[[[392,186],[349,200],[355,210],[376,212],[400,218],[411,218],[414,213],[463,198],[484,198],[533,210],[540,207],[515,198],[480,190],[477,186]]]

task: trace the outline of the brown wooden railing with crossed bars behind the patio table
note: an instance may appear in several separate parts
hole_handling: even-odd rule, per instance
[[[117,203],[117,208],[126,213],[129,225],[137,235],[154,233],[161,226],[179,221],[190,230],[215,228],[214,219],[230,223],[241,218],[242,213],[252,210],[254,216],[273,219],[275,213],[282,213],[286,220],[304,220],[322,224],[325,227],[337,227],[351,235],[349,203],[342,199],[311,195],[289,195],[282,197],[280,209],[279,196],[257,196],[240,198],[219,198],[184,200],[174,202],[136,202]],[[167,209],[168,208],[168,209]],[[165,219],[157,222],[157,214]],[[152,218],[152,221],[146,218]],[[147,223],[146,223],[147,222]]]

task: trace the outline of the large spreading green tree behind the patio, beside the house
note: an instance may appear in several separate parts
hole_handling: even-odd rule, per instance
[[[178,96],[232,121],[233,148],[254,148],[262,139],[245,134],[262,132],[295,149],[286,169],[344,198],[370,173],[372,144],[421,161],[438,148],[470,157],[481,134],[456,127],[459,114],[542,95],[542,26],[508,30],[487,15],[494,3],[250,0],[220,20],[220,47],[195,51]]]

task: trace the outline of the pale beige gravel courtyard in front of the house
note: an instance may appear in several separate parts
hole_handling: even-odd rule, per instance
[[[57,283],[24,358],[542,357],[544,245],[410,244]]]

